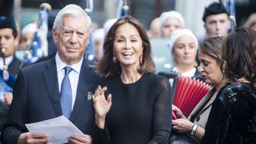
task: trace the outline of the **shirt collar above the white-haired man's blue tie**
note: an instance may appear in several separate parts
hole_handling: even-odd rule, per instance
[[[81,70],[81,66],[82,66],[82,63],[83,63],[83,59],[84,57],[82,57],[81,60],[79,60],[77,63],[74,63],[73,65],[69,66],[71,68],[73,68],[73,70],[75,70],[78,74],[80,74],[80,70]],[[63,62],[61,59],[60,59],[60,56],[57,52],[57,54],[55,55],[55,61],[56,61],[56,66],[57,66],[57,73],[65,68],[66,66],[68,66],[65,62]]]

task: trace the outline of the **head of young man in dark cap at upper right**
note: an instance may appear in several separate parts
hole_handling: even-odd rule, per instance
[[[225,37],[230,27],[229,13],[221,1],[205,7],[203,21],[206,38],[214,36]]]

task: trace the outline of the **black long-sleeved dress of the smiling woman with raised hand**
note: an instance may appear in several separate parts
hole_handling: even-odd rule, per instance
[[[95,125],[94,143],[167,143],[172,123],[172,92],[163,76],[144,74],[124,84],[121,76],[102,81],[112,95],[105,129]]]

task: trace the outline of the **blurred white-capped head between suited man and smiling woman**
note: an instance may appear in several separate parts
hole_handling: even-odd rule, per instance
[[[102,43],[105,38],[104,29],[96,29],[92,33],[94,61],[99,61],[102,54]]]

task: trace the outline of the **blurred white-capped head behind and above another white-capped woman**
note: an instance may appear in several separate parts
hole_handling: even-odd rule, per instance
[[[159,37],[170,38],[172,31],[185,28],[185,20],[177,11],[163,12],[160,16]]]

